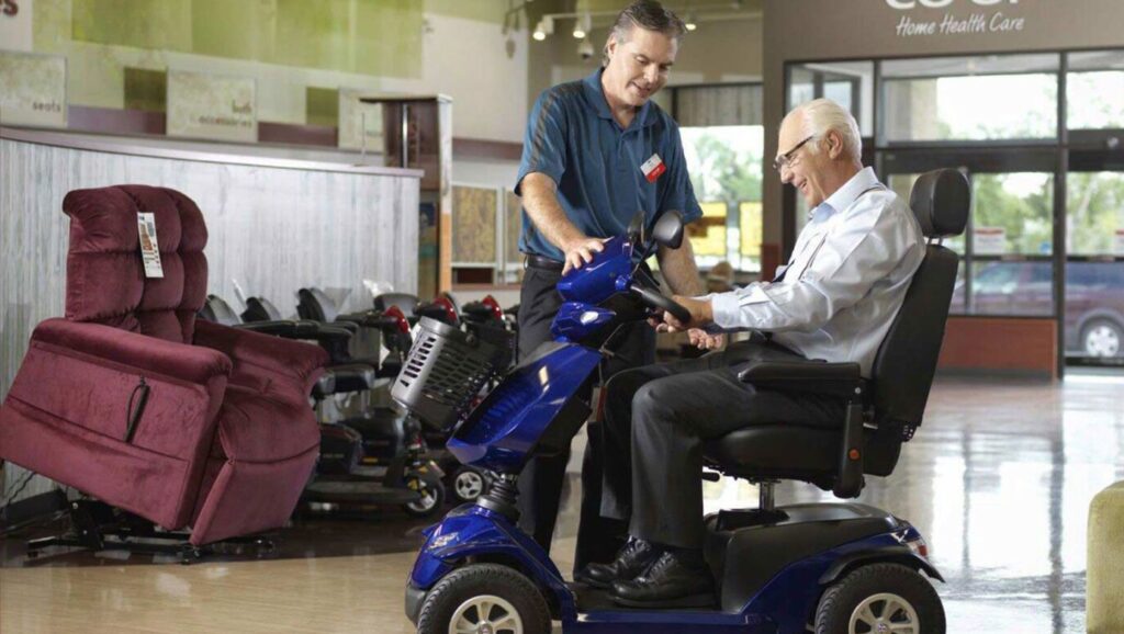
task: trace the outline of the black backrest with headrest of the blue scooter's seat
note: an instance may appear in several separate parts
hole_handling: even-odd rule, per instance
[[[968,221],[971,191],[955,170],[922,174],[909,196],[909,207],[927,238],[958,235]],[[868,473],[894,469],[901,425],[921,425],[944,339],[959,256],[939,244],[926,246],[901,309],[874,357],[872,371],[874,423],[879,433],[867,447]]]

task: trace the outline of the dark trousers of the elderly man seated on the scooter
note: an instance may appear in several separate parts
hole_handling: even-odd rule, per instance
[[[841,400],[759,390],[737,380],[753,360],[795,353],[761,337],[615,375],[606,386],[601,514],[661,544],[701,549],[703,441],[765,424],[839,427]]]

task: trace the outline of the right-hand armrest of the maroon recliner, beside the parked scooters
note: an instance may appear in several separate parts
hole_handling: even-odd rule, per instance
[[[280,382],[300,399],[308,397],[328,362],[328,354],[315,345],[203,320],[196,323],[194,344],[227,354],[234,361],[233,380],[263,391]]]

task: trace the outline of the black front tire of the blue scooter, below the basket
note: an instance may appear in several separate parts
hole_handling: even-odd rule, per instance
[[[429,590],[422,603],[418,615],[418,634],[447,634],[454,618],[479,623],[478,608],[469,607],[459,615],[462,607],[482,601],[486,597],[497,597],[514,608],[515,618],[522,628],[515,628],[508,610],[497,603],[491,608],[490,621],[499,625],[496,634],[550,634],[551,614],[538,588],[518,571],[497,563],[473,563],[448,573]],[[504,627],[505,621],[513,627]]]

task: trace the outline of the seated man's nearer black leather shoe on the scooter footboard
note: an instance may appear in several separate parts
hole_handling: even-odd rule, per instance
[[[714,578],[701,558],[690,560],[665,552],[632,581],[613,583],[613,600],[631,607],[710,607]]]

